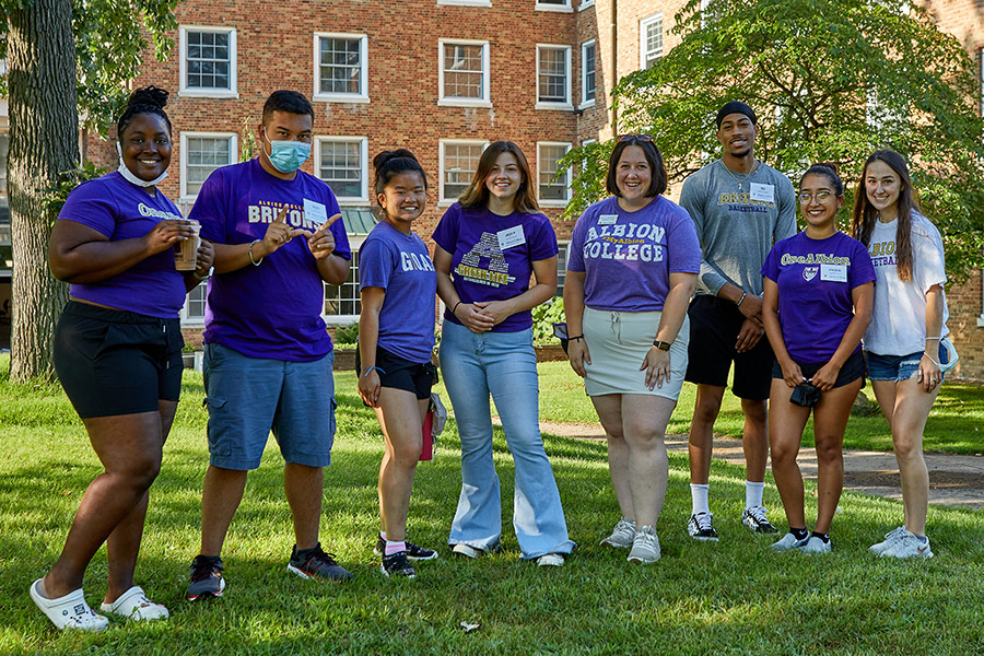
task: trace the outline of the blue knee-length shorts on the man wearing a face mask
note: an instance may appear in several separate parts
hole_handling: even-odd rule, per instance
[[[336,429],[333,362],[331,351],[313,362],[289,362],[206,344],[209,461],[256,469],[272,431],[286,462],[326,467]]]

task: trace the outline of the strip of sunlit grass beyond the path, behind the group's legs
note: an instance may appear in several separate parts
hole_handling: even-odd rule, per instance
[[[540,419],[598,422],[591,401],[584,395],[583,382],[566,362],[542,362],[539,371]],[[881,411],[875,405],[875,393],[871,391],[870,383],[864,391],[872,403],[871,412],[868,417],[851,418],[844,437],[844,448],[890,452],[891,434]],[[690,430],[695,396],[696,386],[684,383],[667,432],[687,433]],[[743,421],[739,400],[730,394],[730,390],[726,391],[714,433],[740,437]],[[981,426],[984,426],[984,387],[946,383],[929,414],[923,437],[925,448],[952,454],[980,454],[984,452],[984,432],[981,432]],[[812,431],[810,421],[804,432],[805,445],[812,446]]]

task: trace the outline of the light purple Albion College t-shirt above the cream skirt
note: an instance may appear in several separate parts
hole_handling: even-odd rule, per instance
[[[584,211],[567,255],[582,271],[584,304],[591,309],[656,312],[669,293],[670,273],[699,273],[701,245],[687,210],[664,198],[630,212],[618,198]]]

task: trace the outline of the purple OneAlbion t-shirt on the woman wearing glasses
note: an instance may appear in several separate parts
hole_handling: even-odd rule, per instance
[[[875,267],[857,239],[842,232],[811,239],[804,231],[772,247],[762,276],[778,285],[780,325],[789,356],[823,364],[854,318],[852,292],[875,281]]]

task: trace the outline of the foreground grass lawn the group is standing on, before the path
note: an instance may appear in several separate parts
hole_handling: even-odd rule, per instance
[[[410,512],[411,538],[441,547],[442,557],[422,563],[415,581],[386,579],[371,551],[382,438],[354,395],[352,374],[337,377],[339,436],[326,470],[321,540],[355,573],[353,582],[301,581],[284,571],[293,539],[274,447],[250,475],[226,542],[225,597],[184,600],[208,461],[201,378],[188,372],[138,567],[139,583],[171,608],[172,619],[113,620],[102,634],[61,633],[34,608],[27,587],[57,558],[99,467],[60,389],[11,386],[5,371],[0,361],[3,655],[984,653],[984,513],[933,507],[928,530],[937,557],[886,562],[866,549],[900,522],[901,505],[846,494],[832,554],[774,554],[769,538],[738,526],[740,470],[715,462],[722,541],[694,543],[684,530],[687,462],[671,457],[659,526],[664,558],[630,566],[624,552],[597,546],[618,518],[604,444],[547,436],[579,544],[574,555],[557,570],[522,562],[507,524],[501,553],[462,562],[443,548],[460,485],[453,422],[436,459],[418,471]],[[547,390],[562,377],[560,365],[544,367],[544,397],[553,397]],[[566,396],[579,400],[579,394]],[[551,419],[591,420],[574,409],[557,417],[552,402],[544,399]],[[501,433],[495,457],[508,517],[513,466]],[[778,508],[774,487],[765,495]],[[815,512],[810,506],[808,517]],[[776,524],[785,527],[780,515]],[[90,604],[102,599],[105,570],[102,551],[85,579]],[[466,633],[462,621],[481,626]]]

